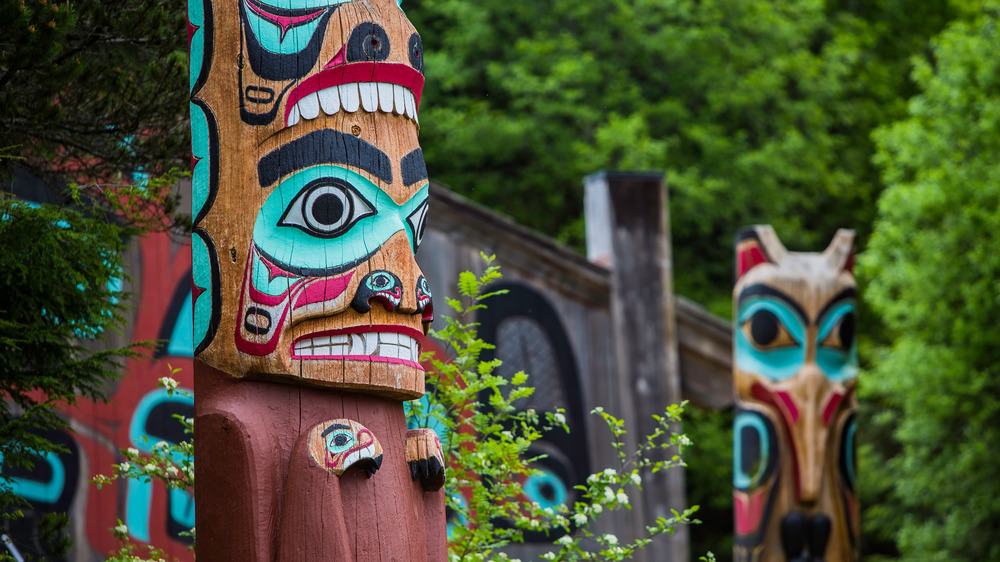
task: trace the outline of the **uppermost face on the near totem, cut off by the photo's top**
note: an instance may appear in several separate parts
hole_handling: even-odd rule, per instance
[[[417,121],[423,45],[395,2],[240,0],[241,119],[270,135],[340,112]]]

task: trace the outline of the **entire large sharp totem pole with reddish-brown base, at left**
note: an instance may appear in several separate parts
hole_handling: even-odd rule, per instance
[[[444,560],[423,50],[397,0],[190,0],[199,560]]]

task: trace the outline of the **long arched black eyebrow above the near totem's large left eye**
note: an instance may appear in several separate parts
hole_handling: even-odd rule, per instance
[[[261,187],[317,164],[347,164],[392,183],[389,157],[354,135],[334,129],[320,129],[281,146],[260,159],[257,176]]]

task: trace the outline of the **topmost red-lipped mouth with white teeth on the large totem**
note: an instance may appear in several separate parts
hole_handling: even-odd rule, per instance
[[[354,62],[325,68],[310,76],[288,95],[285,126],[320,113],[395,113],[418,122],[424,76],[405,64]]]

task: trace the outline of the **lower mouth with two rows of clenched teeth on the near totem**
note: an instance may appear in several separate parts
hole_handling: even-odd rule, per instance
[[[355,326],[296,339],[292,358],[397,363],[422,371],[419,360],[423,340],[423,332],[406,326]]]

